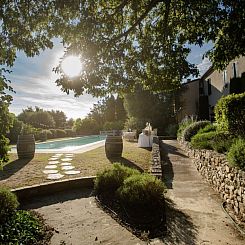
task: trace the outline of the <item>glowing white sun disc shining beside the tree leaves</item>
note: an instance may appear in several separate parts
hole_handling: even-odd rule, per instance
[[[76,77],[82,71],[82,63],[78,56],[67,56],[61,62],[61,68],[68,77]]]

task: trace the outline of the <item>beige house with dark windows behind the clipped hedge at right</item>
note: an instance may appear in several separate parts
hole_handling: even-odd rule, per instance
[[[210,67],[201,78],[183,84],[178,121],[190,115],[214,121],[217,101],[222,96],[242,92],[245,92],[245,56],[232,60],[223,71]]]

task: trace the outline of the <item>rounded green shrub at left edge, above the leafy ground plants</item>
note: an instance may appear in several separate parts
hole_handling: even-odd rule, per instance
[[[13,215],[18,206],[16,195],[6,188],[0,188],[0,224]]]

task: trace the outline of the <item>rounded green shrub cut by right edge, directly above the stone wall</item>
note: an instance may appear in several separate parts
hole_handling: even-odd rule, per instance
[[[239,138],[234,141],[227,158],[231,165],[245,169],[245,139]]]

